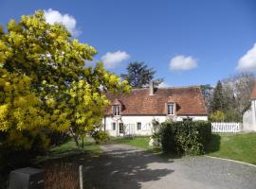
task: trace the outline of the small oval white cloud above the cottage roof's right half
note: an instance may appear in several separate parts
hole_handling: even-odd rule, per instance
[[[197,66],[197,60],[192,57],[185,57],[183,55],[175,56],[170,60],[169,67],[171,70],[191,70]]]

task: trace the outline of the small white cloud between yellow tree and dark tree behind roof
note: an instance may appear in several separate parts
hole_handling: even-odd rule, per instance
[[[130,55],[125,51],[107,52],[101,57],[104,65],[107,68],[115,68],[119,66],[119,63],[123,60],[128,60]]]

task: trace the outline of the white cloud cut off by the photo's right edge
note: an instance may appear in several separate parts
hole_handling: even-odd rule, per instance
[[[256,71],[256,43],[240,60],[236,69],[240,71]]]

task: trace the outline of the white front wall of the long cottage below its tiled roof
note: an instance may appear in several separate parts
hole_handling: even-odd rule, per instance
[[[183,118],[188,116],[176,116],[174,120],[182,121]],[[193,121],[207,121],[208,116],[190,116]],[[103,118],[102,123],[105,124],[105,129],[109,132],[111,136],[121,136],[123,134],[119,133],[119,123],[123,123],[125,134],[132,135],[151,135],[152,134],[152,121],[157,120],[162,123],[165,122],[168,117],[165,115],[122,115],[122,116],[107,116]],[[116,130],[112,129],[112,123],[116,123]],[[137,122],[141,123],[141,129],[137,130]]]

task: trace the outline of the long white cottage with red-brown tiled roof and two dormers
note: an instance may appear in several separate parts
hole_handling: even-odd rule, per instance
[[[134,89],[130,94],[107,94],[111,106],[102,120],[112,136],[151,135],[152,121],[208,120],[199,86]]]

